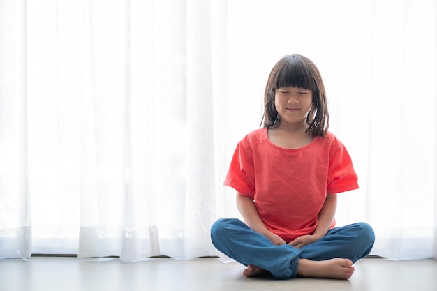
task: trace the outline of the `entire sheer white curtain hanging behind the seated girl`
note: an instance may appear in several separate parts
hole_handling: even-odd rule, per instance
[[[0,0],[0,258],[218,255],[267,75],[304,54],[373,255],[437,257],[434,0]]]

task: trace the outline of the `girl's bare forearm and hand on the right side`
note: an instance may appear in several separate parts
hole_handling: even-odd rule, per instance
[[[291,241],[289,244],[295,246],[296,248],[302,248],[302,246],[312,244],[314,241],[317,241],[321,237],[324,237],[327,234],[329,227],[331,227],[332,221],[334,220],[336,208],[337,195],[328,194],[326,196],[325,203],[323,204],[323,207],[322,209],[320,209],[320,213],[318,214],[318,225],[314,233],[312,235],[304,235],[302,237],[298,237],[294,241]]]

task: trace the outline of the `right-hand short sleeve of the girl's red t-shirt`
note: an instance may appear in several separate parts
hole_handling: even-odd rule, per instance
[[[346,147],[336,138],[329,151],[327,194],[341,193],[358,188],[358,177]]]

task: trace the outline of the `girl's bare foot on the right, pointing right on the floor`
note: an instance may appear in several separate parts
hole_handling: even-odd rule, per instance
[[[333,278],[347,280],[355,268],[349,259],[334,258],[325,261],[299,259],[297,274],[301,277]]]

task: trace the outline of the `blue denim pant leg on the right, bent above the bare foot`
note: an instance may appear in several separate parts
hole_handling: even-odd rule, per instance
[[[374,242],[375,234],[367,223],[336,227],[325,237],[302,247],[299,258],[316,261],[348,258],[355,263],[369,255]]]

